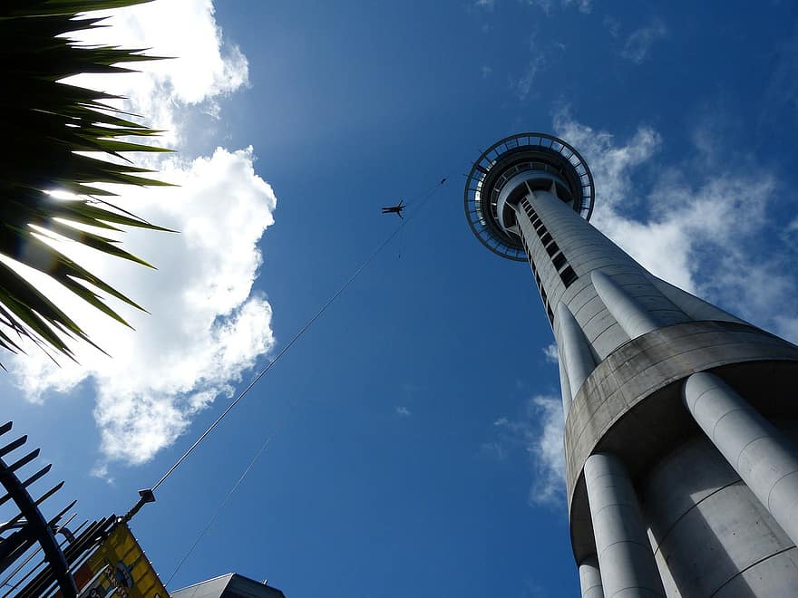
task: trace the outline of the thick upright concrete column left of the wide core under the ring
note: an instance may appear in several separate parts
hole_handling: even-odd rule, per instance
[[[608,598],[665,596],[627,469],[608,453],[585,462],[590,517]]]

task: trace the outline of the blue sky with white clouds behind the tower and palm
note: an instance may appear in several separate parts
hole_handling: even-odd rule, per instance
[[[472,238],[462,175],[501,137],[559,134],[601,230],[798,341],[794,5],[214,5],[158,0],[103,32],[182,56],[118,84],[180,150],[160,165],[180,189],[124,199],[183,232],[126,236],[155,273],[84,256],[152,315],[128,335],[83,314],[112,361],[14,359],[7,417],[81,516],[125,511],[405,198],[413,219],[133,530],[166,581],[271,437],[171,589],[235,571],[289,598],[575,595],[552,335],[528,268]]]

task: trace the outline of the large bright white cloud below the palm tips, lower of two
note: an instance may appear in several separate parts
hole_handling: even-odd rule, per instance
[[[217,149],[190,164],[173,162],[164,165],[163,176],[180,188],[133,189],[118,202],[182,231],[127,234],[125,246],[158,271],[74,244],[61,247],[151,315],[122,306],[136,328],[131,331],[66,296],[68,313],[112,357],[81,345],[80,365],[56,367],[36,353],[11,362],[33,400],[91,379],[103,454],[134,463],[168,446],[218,394],[229,394],[241,372],[274,342],[271,308],[250,292],[261,264],[258,239],[273,222],[276,198],[252,169],[251,149]]]

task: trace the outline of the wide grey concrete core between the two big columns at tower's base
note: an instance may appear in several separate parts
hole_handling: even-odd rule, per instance
[[[798,595],[793,542],[700,431],[652,468],[641,485],[648,536],[668,596]],[[752,593],[743,572],[776,560],[789,593]],[[735,581],[736,580],[736,581]],[[760,586],[764,587],[764,586]]]

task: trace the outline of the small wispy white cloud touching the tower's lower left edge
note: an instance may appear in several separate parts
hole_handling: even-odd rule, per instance
[[[518,420],[501,417],[493,422],[498,438],[482,443],[483,455],[507,458],[511,449],[523,449],[532,472],[530,502],[560,506],[565,498],[562,401],[537,395],[526,401]]]

